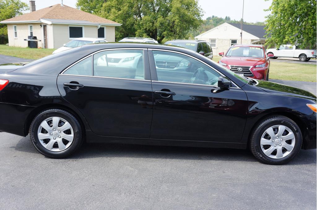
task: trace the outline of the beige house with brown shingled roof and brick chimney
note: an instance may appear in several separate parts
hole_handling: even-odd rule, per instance
[[[36,36],[37,46],[59,48],[80,37],[103,38],[115,41],[115,27],[121,24],[68,7],[63,4],[35,10],[30,1],[30,13],[19,15],[0,23],[8,25],[9,46],[28,46],[28,36]]]

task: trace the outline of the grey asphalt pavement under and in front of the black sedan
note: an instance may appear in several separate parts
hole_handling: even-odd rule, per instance
[[[29,137],[0,133],[0,145],[0,209],[312,210],[317,205],[316,149],[300,150],[290,163],[273,166],[259,163],[248,150],[86,144],[70,158],[50,159]]]

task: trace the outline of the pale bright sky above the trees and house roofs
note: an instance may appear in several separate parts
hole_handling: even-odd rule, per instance
[[[29,4],[28,0],[23,0]],[[229,16],[231,20],[240,20],[242,17],[243,0],[198,0],[199,5],[204,10],[203,19],[215,15],[218,17]],[[42,9],[61,3],[61,0],[36,0],[36,9]],[[70,7],[75,7],[76,0],[63,0],[63,3]],[[272,0],[244,0],[243,21],[246,22],[263,22],[269,12],[263,11],[268,9]]]

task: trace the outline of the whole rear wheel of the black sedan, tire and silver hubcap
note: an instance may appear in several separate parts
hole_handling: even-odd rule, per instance
[[[49,158],[65,158],[78,150],[83,141],[79,121],[62,109],[36,115],[29,133],[35,148]]]

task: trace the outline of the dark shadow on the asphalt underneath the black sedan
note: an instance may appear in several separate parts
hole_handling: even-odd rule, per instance
[[[15,149],[17,151],[38,153],[38,151],[30,142],[28,136],[22,138],[16,145]],[[257,162],[256,158],[249,150],[109,143],[84,144],[79,149],[79,151],[65,159],[86,159],[100,157]],[[302,164],[316,164],[315,149],[301,149],[294,159],[288,163],[288,165]]]

